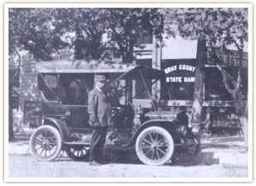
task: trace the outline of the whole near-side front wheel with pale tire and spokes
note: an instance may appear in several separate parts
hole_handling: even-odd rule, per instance
[[[148,127],[137,137],[137,156],[149,166],[164,165],[171,159],[173,151],[174,142],[171,134],[159,126]]]

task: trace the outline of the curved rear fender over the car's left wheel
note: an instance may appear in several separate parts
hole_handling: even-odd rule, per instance
[[[52,125],[61,133],[62,142],[67,142],[70,137],[69,129],[65,121],[61,119],[55,119],[50,117],[42,117],[44,120],[43,125]]]

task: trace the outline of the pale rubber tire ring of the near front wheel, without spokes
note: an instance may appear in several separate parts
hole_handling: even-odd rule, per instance
[[[161,160],[150,160],[148,159],[142,151],[142,148],[140,147],[140,142],[143,140],[143,137],[146,137],[148,135],[148,133],[159,133],[161,136],[166,138],[166,141],[168,142],[168,151],[166,153],[166,155],[161,159]],[[172,135],[166,131],[166,129],[160,127],[160,126],[150,126],[146,129],[144,129],[139,136],[137,137],[137,141],[136,141],[136,153],[137,153],[137,157],[139,158],[139,160],[141,160],[144,164],[148,165],[148,166],[161,166],[166,164],[169,160],[171,160],[172,158],[172,154],[174,152],[174,142],[172,139]]]

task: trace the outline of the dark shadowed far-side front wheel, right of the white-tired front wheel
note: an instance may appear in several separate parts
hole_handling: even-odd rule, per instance
[[[195,157],[200,152],[200,144],[195,142],[194,139],[189,139],[188,142],[177,145],[172,156],[172,162],[176,165],[191,166],[195,163]]]

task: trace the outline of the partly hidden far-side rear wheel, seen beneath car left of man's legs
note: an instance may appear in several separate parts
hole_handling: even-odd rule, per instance
[[[66,153],[75,161],[89,160],[90,147],[84,145],[66,145]]]

